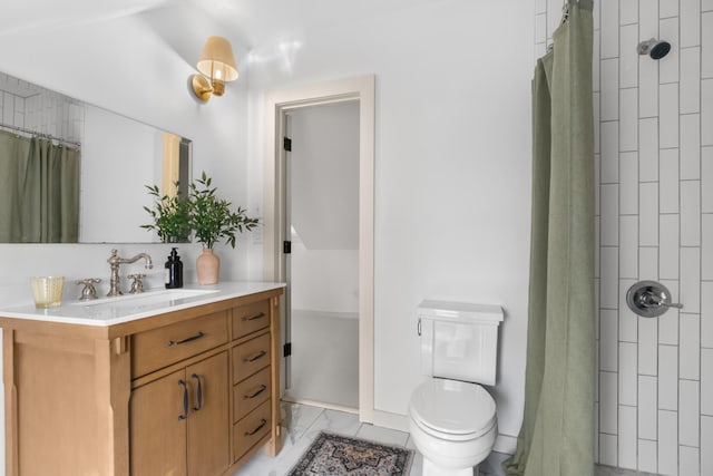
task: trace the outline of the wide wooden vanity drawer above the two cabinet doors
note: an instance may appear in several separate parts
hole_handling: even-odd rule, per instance
[[[227,342],[227,311],[139,332],[131,337],[131,377],[196,356]]]

